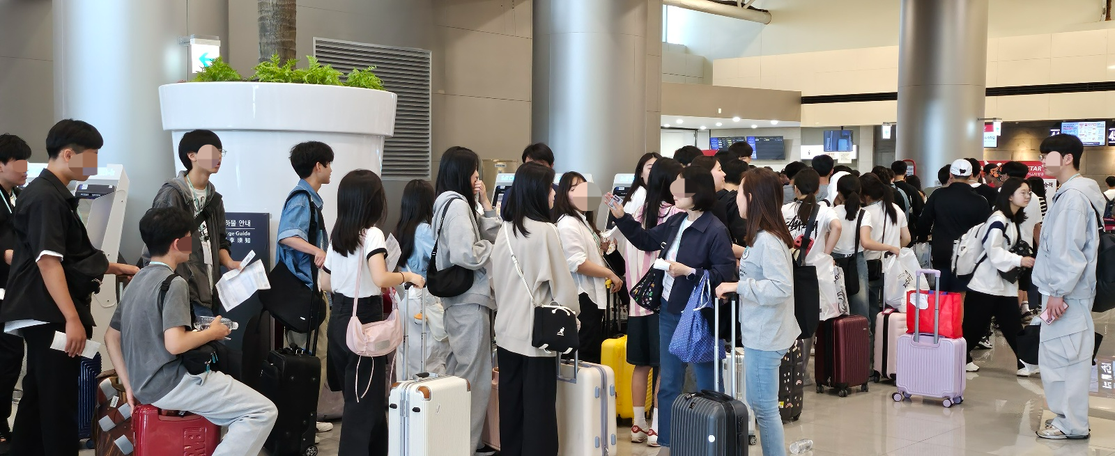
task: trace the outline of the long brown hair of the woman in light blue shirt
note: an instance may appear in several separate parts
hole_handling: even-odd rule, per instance
[[[767,168],[754,168],[744,173],[739,195],[747,202],[747,245],[755,245],[755,236],[765,231],[778,237],[787,249],[794,246],[794,239],[782,216],[782,181],[778,174]]]

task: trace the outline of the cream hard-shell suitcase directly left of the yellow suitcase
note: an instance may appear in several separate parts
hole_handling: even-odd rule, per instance
[[[615,372],[575,356],[558,362],[558,454],[615,455]]]

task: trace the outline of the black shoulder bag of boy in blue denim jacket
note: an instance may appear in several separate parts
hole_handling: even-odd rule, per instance
[[[304,194],[306,197],[310,198],[309,192],[300,190],[291,193],[287,197],[287,203],[290,203],[290,200],[299,194]],[[284,207],[287,203],[283,203]],[[318,227],[321,225],[324,225],[321,212],[310,198],[310,239],[307,241],[314,246],[318,245]],[[314,265],[312,259],[310,261],[310,278],[312,284],[307,287],[287,264],[279,263],[268,273],[271,289],[260,292],[260,302],[263,304],[263,309],[271,312],[271,316],[279,320],[283,327],[303,334],[321,326],[326,316],[326,299],[318,291],[318,266]],[[307,302],[310,307],[309,318],[307,318]]]

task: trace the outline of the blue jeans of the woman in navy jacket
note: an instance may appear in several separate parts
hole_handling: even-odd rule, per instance
[[[681,385],[685,382],[686,363],[670,352],[670,340],[673,339],[673,331],[678,328],[680,313],[670,313],[666,310],[666,300],[662,300],[662,311],[658,314],[658,349],[661,369],[662,384],[658,390],[658,444],[663,447],[670,446],[670,413],[673,408],[673,400],[681,394]],[[782,357],[778,357],[779,362]],[[715,375],[719,373],[716,362],[698,362],[692,365],[694,373],[697,375],[697,390],[712,390]],[[778,363],[775,363],[775,382],[777,387]],[[778,414],[778,390],[775,391],[775,415]],[[779,418],[780,419],[780,418]],[[779,425],[779,428],[782,426]]]

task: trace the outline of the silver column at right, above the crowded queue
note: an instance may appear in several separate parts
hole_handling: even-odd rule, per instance
[[[988,0],[902,0],[898,159],[922,182],[957,158],[983,157]]]

